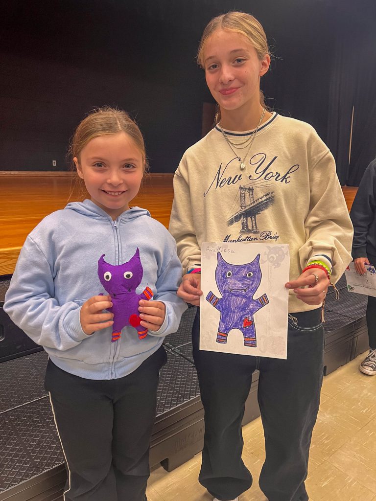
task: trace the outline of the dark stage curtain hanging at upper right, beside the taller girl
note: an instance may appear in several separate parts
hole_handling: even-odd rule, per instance
[[[375,3],[364,1],[356,7],[338,3],[333,20],[327,144],[336,159],[341,184],[358,186],[376,156]]]

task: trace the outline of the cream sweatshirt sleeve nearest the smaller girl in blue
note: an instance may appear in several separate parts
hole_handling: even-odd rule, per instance
[[[184,163],[183,157],[180,166]],[[173,178],[174,198],[168,230],[176,240],[177,255],[186,273],[190,268],[201,266],[201,247],[196,236],[190,187],[179,168]]]

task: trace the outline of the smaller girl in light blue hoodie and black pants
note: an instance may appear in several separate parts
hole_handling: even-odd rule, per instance
[[[176,296],[181,264],[162,224],[129,207],[146,168],[129,116],[111,108],[90,114],[71,153],[90,199],[69,203],[30,233],[4,309],[49,354],[45,385],[68,470],[64,500],[145,501],[162,341],[186,308]],[[129,326],[111,336],[113,314],[105,310],[115,294],[112,302],[98,278],[102,255],[115,265],[105,265],[104,280],[128,263],[127,283],[141,264],[138,335]]]

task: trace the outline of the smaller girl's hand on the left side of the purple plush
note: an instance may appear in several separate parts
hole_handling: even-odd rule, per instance
[[[111,327],[113,313],[103,313],[103,310],[111,306],[110,296],[93,296],[85,301],[80,311],[81,327],[85,334],[91,336],[95,331]]]

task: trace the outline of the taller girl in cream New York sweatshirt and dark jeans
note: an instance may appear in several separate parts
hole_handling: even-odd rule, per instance
[[[287,360],[200,351],[196,317],[194,357],[205,407],[199,479],[221,501],[251,486],[241,421],[258,369],[266,447],[260,487],[269,501],[305,501],[323,375],[321,304],[329,280],[351,259],[352,226],[328,148],[310,125],[265,106],[260,78],[270,55],[260,23],[240,12],[213,19],[198,61],[219,112],[174,177],[170,231],[185,272],[178,295],[200,305],[203,241],[288,243],[291,258]]]

